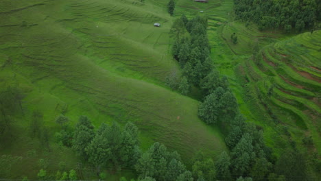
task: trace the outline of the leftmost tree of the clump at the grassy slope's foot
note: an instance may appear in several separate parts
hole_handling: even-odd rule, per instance
[[[85,160],[88,159],[88,155],[85,152],[86,147],[93,140],[95,132],[93,131],[93,124],[88,117],[81,116],[75,126],[75,132],[73,134],[73,149],[78,156],[81,156]]]

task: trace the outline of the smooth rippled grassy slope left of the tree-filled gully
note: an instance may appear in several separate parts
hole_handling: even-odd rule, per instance
[[[26,130],[36,109],[45,114],[44,124],[51,134],[59,130],[55,117],[67,110],[71,124],[81,114],[96,126],[112,120],[134,121],[141,130],[143,149],[160,141],[180,152],[185,160],[198,150],[216,156],[226,149],[219,131],[198,119],[198,101],[163,86],[165,77],[178,71],[169,55],[172,18],[162,8],[165,3],[2,3],[1,88],[16,85],[26,97],[24,115],[14,121],[17,133],[24,130],[22,137],[16,136],[16,144],[11,147],[1,147],[1,154],[25,156],[29,150],[40,148],[37,141],[28,138]],[[22,26],[23,21],[27,26]],[[155,21],[162,26],[153,27]],[[50,154],[38,152],[34,158],[24,158],[24,162],[33,162],[33,167],[12,177],[34,178],[38,158],[48,158],[56,165],[49,170],[55,170],[54,163],[60,160],[75,163],[70,150],[54,143]]]

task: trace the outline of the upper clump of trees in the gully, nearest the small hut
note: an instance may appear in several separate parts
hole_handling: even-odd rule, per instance
[[[175,37],[173,56],[182,67],[182,77],[180,82],[174,81],[169,86],[184,95],[189,93],[191,86],[202,86],[203,80],[214,69],[206,27],[206,17],[195,16],[188,20],[185,15],[176,19],[171,27],[171,34]]]

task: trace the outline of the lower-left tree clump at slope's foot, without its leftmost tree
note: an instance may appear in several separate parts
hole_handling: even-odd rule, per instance
[[[132,123],[126,123],[123,130],[117,123],[111,126],[103,123],[85,148],[88,162],[95,165],[97,174],[107,164],[116,169],[132,167],[141,153],[138,134],[138,129]]]

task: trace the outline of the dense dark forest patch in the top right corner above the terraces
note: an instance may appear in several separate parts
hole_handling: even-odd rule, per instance
[[[235,0],[235,14],[243,21],[253,21],[260,29],[313,28],[321,20],[319,0]]]

